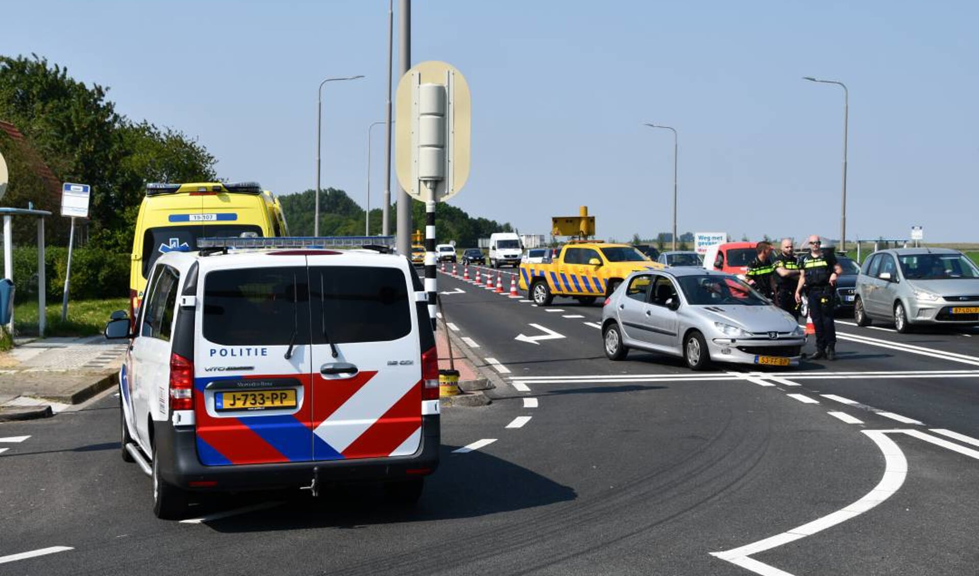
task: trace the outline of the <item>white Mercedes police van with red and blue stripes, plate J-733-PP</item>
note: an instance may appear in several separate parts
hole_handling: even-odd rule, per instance
[[[106,337],[131,338],[122,457],[153,477],[157,516],[184,515],[191,492],[421,495],[440,444],[426,294],[406,258],[324,242],[202,239],[154,264],[134,334],[113,314]],[[227,249],[246,245],[263,249]]]

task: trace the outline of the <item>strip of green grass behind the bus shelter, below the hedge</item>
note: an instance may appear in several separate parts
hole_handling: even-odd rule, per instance
[[[101,334],[109,315],[129,310],[125,298],[80,300],[68,303],[68,319],[61,319],[61,302],[49,304],[46,310],[45,336],[94,336]],[[14,305],[14,328],[18,336],[37,336],[37,301]]]

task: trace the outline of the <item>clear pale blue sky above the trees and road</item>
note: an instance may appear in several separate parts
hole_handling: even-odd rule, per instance
[[[473,168],[451,202],[473,216],[546,233],[587,205],[603,237],[669,230],[673,141],[653,121],[679,131],[680,231],[837,237],[843,93],[801,79],[815,75],[850,88],[848,237],[920,224],[926,240],[979,241],[975,2],[412,4],[412,62],[449,62],[472,90]],[[5,4],[0,53],[110,86],[122,114],[196,136],[221,177],[278,193],[314,185],[319,80],[364,74],[324,90],[322,176],[362,205],[387,12],[32,0]],[[375,207],[383,148],[379,126]]]

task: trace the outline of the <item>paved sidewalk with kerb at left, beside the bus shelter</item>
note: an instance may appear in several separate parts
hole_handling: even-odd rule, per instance
[[[0,422],[50,416],[116,385],[128,346],[102,336],[16,344],[0,353]]]

